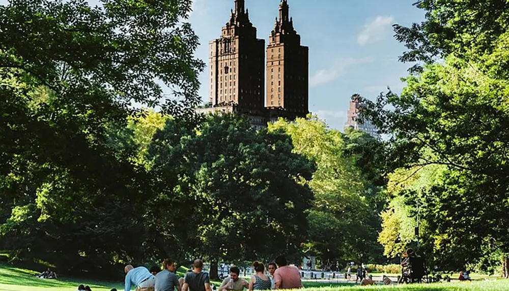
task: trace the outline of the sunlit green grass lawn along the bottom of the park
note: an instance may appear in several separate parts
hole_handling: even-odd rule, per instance
[[[34,277],[35,271],[20,269],[6,264],[0,264],[0,291],[73,291],[79,284],[89,285],[93,291],[109,291],[111,288],[122,290],[123,282],[107,282],[94,280],[80,280],[75,278],[39,279]],[[216,284],[217,285],[217,284]],[[360,290],[410,290],[410,291],[506,291],[509,290],[509,280],[474,281],[457,283],[414,284],[400,286],[370,286],[304,282],[307,291],[360,291]]]

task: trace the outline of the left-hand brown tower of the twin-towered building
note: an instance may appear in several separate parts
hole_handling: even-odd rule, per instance
[[[212,106],[235,104],[263,109],[265,41],[249,21],[244,0],[235,0],[221,37],[209,43],[209,99]]]

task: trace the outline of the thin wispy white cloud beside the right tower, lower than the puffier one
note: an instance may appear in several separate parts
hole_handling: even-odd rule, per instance
[[[332,62],[332,66],[329,69],[323,69],[316,72],[309,78],[309,86],[316,87],[344,76],[347,72],[347,68],[356,64],[373,62],[372,57],[363,58],[338,58]]]

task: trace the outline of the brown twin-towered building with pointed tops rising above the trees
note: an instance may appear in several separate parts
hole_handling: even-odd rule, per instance
[[[211,107],[198,111],[246,114],[259,126],[278,117],[306,116],[309,53],[308,47],[300,45],[287,0],[279,4],[267,47],[265,40],[257,38],[245,1],[235,0],[230,21],[209,48]]]

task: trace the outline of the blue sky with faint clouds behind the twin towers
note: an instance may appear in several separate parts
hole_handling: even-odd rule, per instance
[[[245,0],[258,38],[268,36],[280,0]],[[410,64],[398,62],[405,47],[393,38],[393,23],[423,19],[415,0],[288,0],[290,16],[309,47],[309,110],[330,127],[343,130],[350,97],[374,99],[390,86],[400,92]],[[196,56],[208,63],[208,42],[218,38],[234,0],[194,0],[190,15],[201,46]],[[200,76],[200,94],[208,96],[208,78]]]

